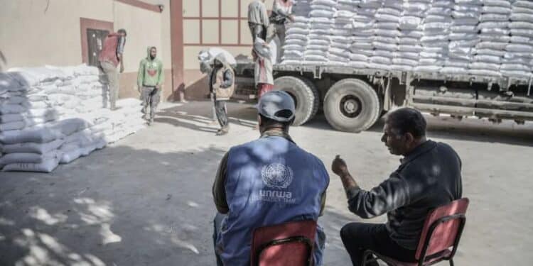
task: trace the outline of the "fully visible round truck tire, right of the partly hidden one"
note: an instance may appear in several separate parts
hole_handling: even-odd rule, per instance
[[[376,123],[381,109],[375,90],[360,79],[338,81],[324,98],[325,118],[338,131],[367,130]]]

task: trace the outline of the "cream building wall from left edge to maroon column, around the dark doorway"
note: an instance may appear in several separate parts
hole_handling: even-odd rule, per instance
[[[126,2],[126,3],[125,3]],[[131,4],[133,3],[133,4]],[[146,48],[156,46],[165,68],[163,99],[171,99],[171,44],[169,0],[163,12],[141,8],[140,1],[16,0],[1,1],[0,70],[10,67],[79,65],[82,60],[80,18],[113,23],[114,31],[128,32],[120,97],[137,97],[136,74]],[[142,4],[142,3],[141,3]]]

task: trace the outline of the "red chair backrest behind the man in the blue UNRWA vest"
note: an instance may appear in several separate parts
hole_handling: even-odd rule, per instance
[[[316,221],[294,221],[256,228],[252,266],[312,265]]]

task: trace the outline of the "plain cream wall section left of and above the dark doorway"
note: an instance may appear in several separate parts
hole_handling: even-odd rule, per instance
[[[0,70],[82,62],[80,17],[113,21],[112,0],[1,0]]]

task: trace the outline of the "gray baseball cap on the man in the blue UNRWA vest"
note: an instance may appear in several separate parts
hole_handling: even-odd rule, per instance
[[[272,91],[261,96],[257,111],[274,121],[289,122],[294,118],[296,108],[291,95],[284,91]]]

